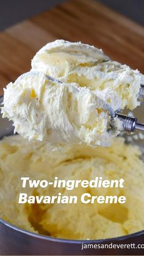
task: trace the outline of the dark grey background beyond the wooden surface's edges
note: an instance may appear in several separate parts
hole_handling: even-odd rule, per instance
[[[67,0],[0,0],[0,30]],[[87,0],[88,1],[88,0]],[[95,0],[144,25],[144,0]]]

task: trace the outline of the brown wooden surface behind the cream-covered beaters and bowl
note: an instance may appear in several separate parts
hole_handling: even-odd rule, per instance
[[[31,68],[34,54],[57,38],[102,48],[144,73],[144,28],[94,0],[70,0],[0,34],[0,93]]]

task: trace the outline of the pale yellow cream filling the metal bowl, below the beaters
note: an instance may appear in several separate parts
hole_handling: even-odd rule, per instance
[[[144,163],[138,147],[113,139],[111,147],[69,145],[49,152],[44,142],[28,142],[20,136],[0,142],[0,217],[23,229],[66,239],[101,239],[128,235],[144,229]],[[124,188],[21,188],[21,177],[53,181],[123,178]],[[31,195],[123,195],[123,205],[34,204],[18,205],[20,192]]]

